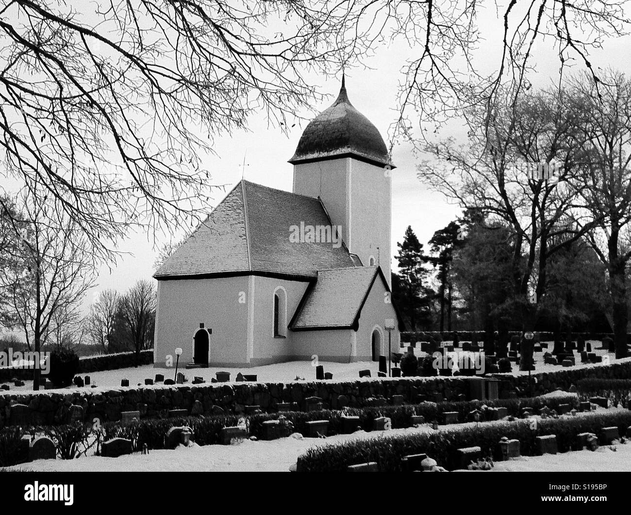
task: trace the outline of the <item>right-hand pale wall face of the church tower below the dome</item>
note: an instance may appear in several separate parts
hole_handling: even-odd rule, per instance
[[[364,265],[374,256],[390,285],[391,277],[391,178],[384,167],[350,160],[350,239],[349,250]],[[379,247],[379,250],[377,250]]]

